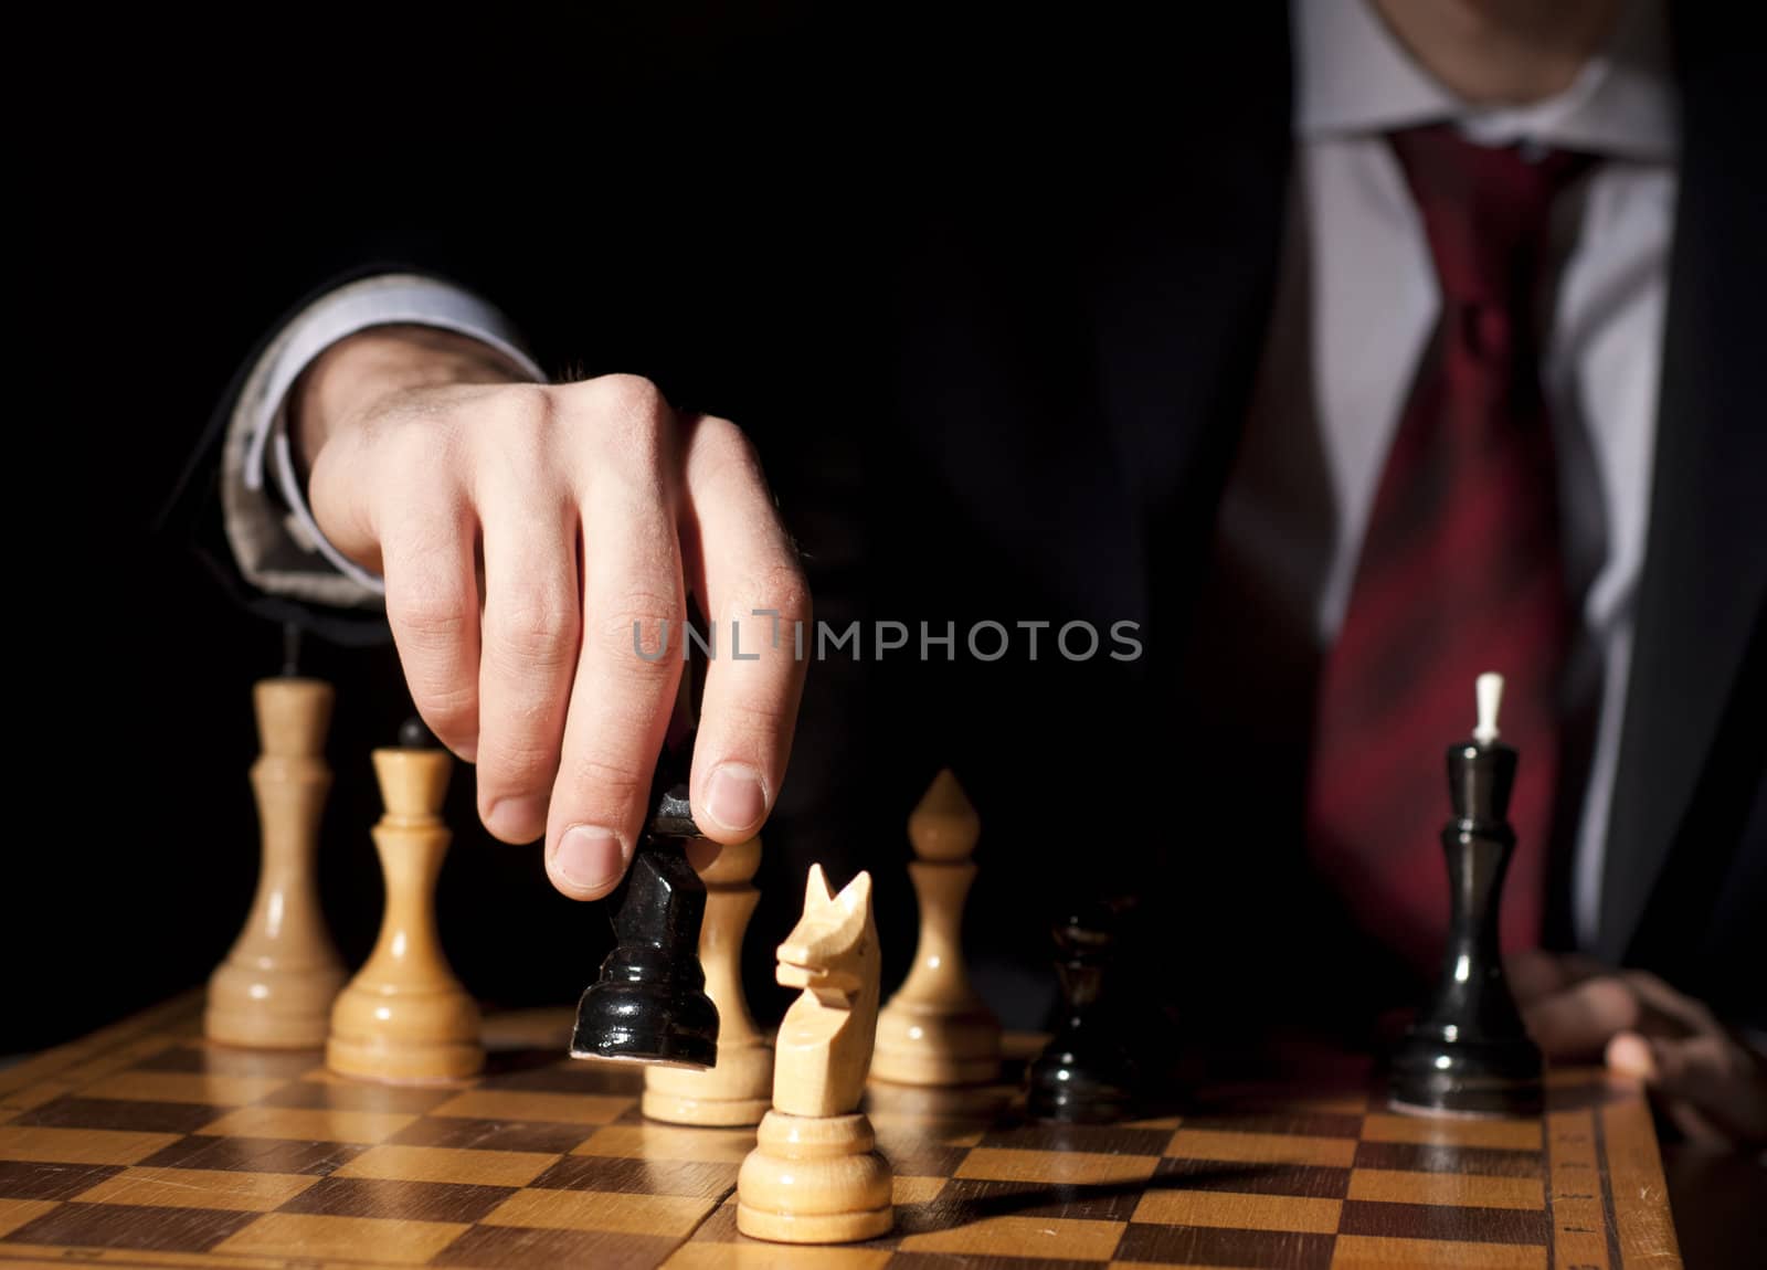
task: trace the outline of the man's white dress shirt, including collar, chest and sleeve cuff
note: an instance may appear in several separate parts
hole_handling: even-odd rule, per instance
[[[1608,48],[1569,90],[1507,110],[1456,99],[1364,0],[1293,0],[1292,16],[1295,201],[1278,318],[1221,530],[1235,563],[1288,604],[1320,648],[1343,622],[1385,450],[1440,307],[1422,226],[1384,134],[1452,120],[1477,141],[1606,159],[1573,208],[1580,223],[1562,226],[1574,246],[1558,268],[1543,367],[1567,576],[1585,595],[1573,691],[1599,703],[1573,897],[1587,943],[1643,563],[1673,228],[1679,118],[1661,0],[1627,4]],[[495,309],[431,279],[368,279],[313,304],[253,369],[228,436],[228,533],[246,576],[265,590],[332,604],[378,601],[380,579],[330,549],[313,525],[281,420],[288,389],[320,352],[392,321],[477,336],[544,378]],[[1299,429],[1311,431],[1308,445],[1297,443]],[[270,479],[293,509],[286,516],[265,498]],[[1309,488],[1323,498],[1293,496]]]

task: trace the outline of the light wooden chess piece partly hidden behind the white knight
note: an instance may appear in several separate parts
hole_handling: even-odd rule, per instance
[[[772,1106],[772,1040],[755,1026],[742,993],[742,934],[762,896],[749,878],[760,862],[758,837],[723,848],[703,837],[687,843],[687,864],[705,883],[700,964],[717,1007],[717,1065],[645,1067],[643,1113],[652,1120],[733,1129],[758,1125]]]

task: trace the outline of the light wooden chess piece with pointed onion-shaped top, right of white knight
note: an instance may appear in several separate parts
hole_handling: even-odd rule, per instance
[[[921,941],[908,979],[878,1016],[871,1076],[898,1085],[984,1085],[1000,1074],[1000,1021],[963,966],[963,901],[975,881],[981,818],[951,770],[908,816]]]

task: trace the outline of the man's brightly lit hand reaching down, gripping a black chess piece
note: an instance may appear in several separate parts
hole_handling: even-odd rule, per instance
[[[691,797],[721,843],[753,835],[779,793],[809,592],[733,424],[677,417],[633,376],[516,380],[475,341],[368,330],[309,367],[292,427],[318,526],[385,578],[417,710],[479,765],[486,828],[544,832],[553,885],[595,899],[648,811],[687,590],[717,639]]]

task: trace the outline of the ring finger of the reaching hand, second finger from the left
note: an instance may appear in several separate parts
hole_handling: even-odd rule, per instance
[[[523,500],[507,475],[481,493],[479,818],[505,843],[532,843],[546,832],[578,662],[578,512]]]

